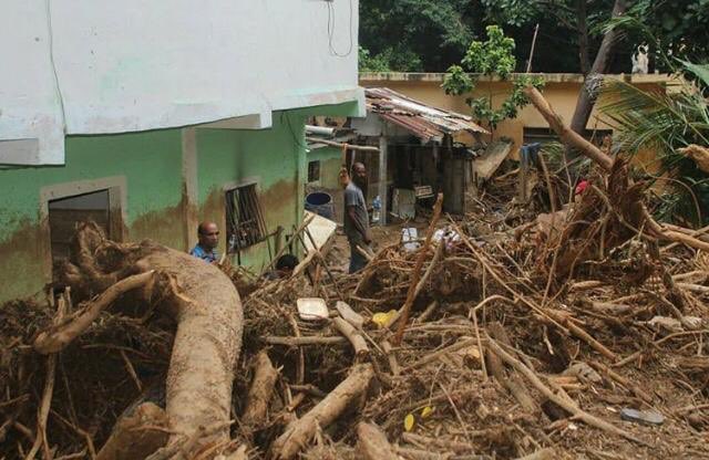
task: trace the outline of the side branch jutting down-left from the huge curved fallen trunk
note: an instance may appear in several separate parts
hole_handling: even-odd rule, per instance
[[[52,325],[42,331],[34,339],[34,349],[42,355],[63,349],[71,341],[84,333],[101,312],[111,306],[116,299],[129,291],[147,285],[154,280],[154,276],[155,271],[151,270],[125,278],[113,284],[86,306],[68,317],[68,322]]]

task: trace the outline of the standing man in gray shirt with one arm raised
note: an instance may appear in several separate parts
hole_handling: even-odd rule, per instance
[[[367,189],[367,169],[361,163],[352,166],[352,180],[345,188],[345,234],[350,243],[350,273],[367,265],[367,258],[357,248],[372,254],[369,215],[362,190]]]

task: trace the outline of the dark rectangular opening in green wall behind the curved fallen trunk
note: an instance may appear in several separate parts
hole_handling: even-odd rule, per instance
[[[109,190],[60,198],[49,202],[50,244],[52,263],[69,258],[69,248],[79,222],[94,221],[107,238],[111,234]]]

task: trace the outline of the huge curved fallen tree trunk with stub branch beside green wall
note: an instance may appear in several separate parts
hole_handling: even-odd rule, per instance
[[[100,295],[41,333],[35,341],[38,352],[61,349],[85,331],[102,309],[131,291],[146,309],[155,306],[177,323],[166,381],[167,447],[189,441],[189,450],[195,452],[228,440],[243,311],[234,284],[222,271],[152,241],[107,241],[97,226],[85,223],[78,230],[61,276],[84,299]],[[116,424],[114,430],[123,425]],[[204,432],[206,427],[218,428]],[[120,439],[132,443],[140,439],[131,438],[116,432],[112,436],[113,445]],[[125,448],[113,445],[114,450]]]

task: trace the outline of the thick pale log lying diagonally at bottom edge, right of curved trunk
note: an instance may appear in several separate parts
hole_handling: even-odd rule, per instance
[[[318,428],[325,429],[360,395],[374,376],[371,364],[357,364],[350,375],[302,418],[290,424],[271,446],[273,458],[289,460],[312,439]]]

